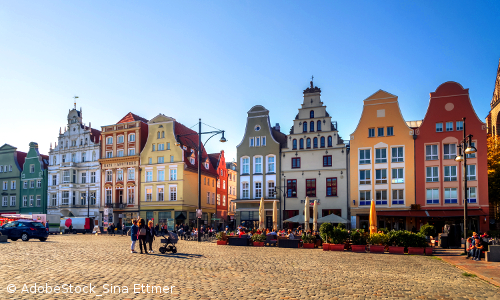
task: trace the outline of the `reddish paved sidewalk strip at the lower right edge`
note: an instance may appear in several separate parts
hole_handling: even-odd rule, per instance
[[[500,287],[500,262],[485,262],[484,258],[481,261],[465,259],[465,255],[460,255],[463,252],[463,249],[435,248],[434,256]]]

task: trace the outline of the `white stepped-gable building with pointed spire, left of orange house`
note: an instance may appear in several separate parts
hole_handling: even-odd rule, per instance
[[[288,136],[288,147],[282,150],[282,173],[286,186],[283,219],[304,213],[309,197],[311,216],[314,200],[318,217],[336,214],[348,218],[349,151],[339,136],[337,122],[321,101],[321,89],[304,90],[304,98]],[[292,225],[292,224],[290,224]]]

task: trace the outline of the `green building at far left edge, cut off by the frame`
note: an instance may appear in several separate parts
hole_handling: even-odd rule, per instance
[[[0,214],[19,213],[21,199],[21,172],[24,167],[26,153],[17,151],[16,147],[4,144],[0,147]]]

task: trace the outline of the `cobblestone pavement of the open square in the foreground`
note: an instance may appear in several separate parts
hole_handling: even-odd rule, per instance
[[[129,248],[129,237],[81,234],[0,244],[0,299],[500,299],[498,287],[425,256],[192,241],[179,241],[177,254],[131,254]],[[71,284],[74,293],[22,292],[35,283]],[[75,286],[89,283],[95,293],[75,293]],[[129,293],[106,293],[106,284]],[[134,294],[134,284],[144,284],[144,292],[146,284],[175,287],[168,294]],[[16,292],[8,293],[11,285]]]

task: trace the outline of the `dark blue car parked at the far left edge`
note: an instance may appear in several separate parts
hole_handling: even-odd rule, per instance
[[[47,229],[42,223],[28,220],[9,222],[0,227],[0,232],[13,241],[21,239],[25,242],[29,241],[29,239],[39,239],[44,242],[49,236]]]

